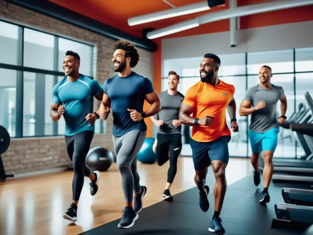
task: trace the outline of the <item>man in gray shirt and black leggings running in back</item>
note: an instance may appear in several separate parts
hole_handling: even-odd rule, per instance
[[[159,128],[156,137],[156,161],[159,166],[162,166],[168,159],[170,160],[167,183],[162,196],[166,201],[173,201],[170,187],[177,172],[177,159],[182,150],[182,126],[178,120],[178,114],[184,96],[177,91],[179,75],[176,72],[170,71],[168,73],[167,82],[167,91],[159,94],[162,110],[150,118]]]

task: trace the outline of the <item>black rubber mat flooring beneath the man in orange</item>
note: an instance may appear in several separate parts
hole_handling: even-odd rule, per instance
[[[208,174],[213,175],[211,169],[209,169]],[[115,220],[83,234],[215,234],[208,231],[210,220],[214,213],[214,180],[209,175],[208,178],[210,180],[207,179],[207,185],[210,187],[208,196],[210,209],[206,213],[199,207],[198,189],[192,188],[174,195],[173,202],[162,201],[144,208],[139,212],[139,218],[135,222],[135,225],[129,229],[118,229],[117,225],[120,220]],[[225,234],[301,234],[295,231],[271,228],[272,219],[276,217],[274,204],[283,202],[281,185],[278,187],[271,183],[269,188],[271,201],[267,206],[261,206],[259,199],[262,185],[263,182],[261,182],[258,188],[255,187],[253,176],[251,175],[228,186],[220,215],[223,221],[222,224],[226,230]]]

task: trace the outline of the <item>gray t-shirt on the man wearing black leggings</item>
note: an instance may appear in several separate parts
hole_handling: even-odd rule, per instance
[[[176,134],[181,133],[182,126],[174,127],[172,121],[178,119],[180,105],[184,100],[182,93],[177,92],[176,95],[170,95],[167,91],[159,94],[161,99],[161,111],[154,117],[157,120],[162,120],[164,124],[160,126],[158,133],[160,134]]]

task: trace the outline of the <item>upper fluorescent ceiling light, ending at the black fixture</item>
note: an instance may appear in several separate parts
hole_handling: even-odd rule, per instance
[[[209,10],[208,2],[201,2],[195,4],[189,4],[182,7],[176,7],[165,11],[155,12],[151,14],[141,15],[133,18],[129,18],[128,25],[133,26],[137,24],[144,24],[152,21],[172,18],[181,15],[192,14],[196,12],[202,12]]]

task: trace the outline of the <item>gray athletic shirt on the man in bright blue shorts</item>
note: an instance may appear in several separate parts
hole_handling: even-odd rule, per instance
[[[246,91],[244,100],[251,102],[255,107],[260,101],[265,102],[265,107],[251,113],[251,123],[249,130],[256,133],[264,133],[273,128],[279,128],[276,117],[277,102],[285,95],[281,86],[271,84],[266,90],[260,85],[253,86]]]

